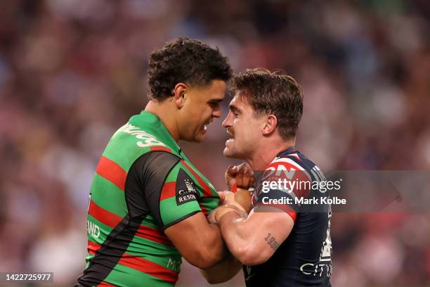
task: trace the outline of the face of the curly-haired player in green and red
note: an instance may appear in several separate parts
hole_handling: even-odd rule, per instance
[[[200,142],[206,136],[214,117],[221,117],[220,103],[226,93],[226,82],[214,79],[203,87],[191,87],[181,109],[181,139]]]

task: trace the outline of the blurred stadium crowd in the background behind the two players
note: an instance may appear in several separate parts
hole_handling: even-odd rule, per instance
[[[148,102],[150,53],[182,35],[219,46],[235,72],[296,78],[297,148],[322,170],[429,170],[429,30],[427,0],[3,1],[0,272],[75,282],[98,158]],[[204,144],[180,143],[218,189],[226,139],[215,120]],[[428,213],[335,213],[332,241],[333,286],[430,286]],[[178,285],[206,284],[184,262]]]

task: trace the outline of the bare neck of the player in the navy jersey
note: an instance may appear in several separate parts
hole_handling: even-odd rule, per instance
[[[253,170],[266,170],[269,163],[271,163],[278,153],[291,148],[294,144],[295,139],[264,144],[261,148],[257,148],[256,152],[250,158],[247,158],[247,162]]]

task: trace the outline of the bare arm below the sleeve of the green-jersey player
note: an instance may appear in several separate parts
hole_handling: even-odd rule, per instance
[[[202,212],[168,227],[164,234],[185,260],[201,269],[220,262],[227,254],[219,227],[209,224]]]

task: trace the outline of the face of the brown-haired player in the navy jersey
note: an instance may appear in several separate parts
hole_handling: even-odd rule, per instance
[[[223,121],[223,127],[231,138],[226,141],[224,155],[228,158],[246,160],[261,140],[264,117],[254,115],[254,109],[247,100],[236,94],[230,102],[230,111]]]

